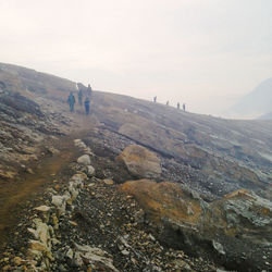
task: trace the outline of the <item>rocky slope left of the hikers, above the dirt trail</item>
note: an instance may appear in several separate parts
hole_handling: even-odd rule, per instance
[[[75,87],[62,78],[0,63],[1,178],[16,177],[42,152],[42,140],[67,132],[72,119],[63,112],[63,101]]]

